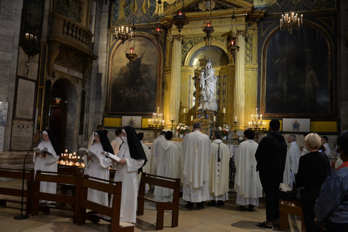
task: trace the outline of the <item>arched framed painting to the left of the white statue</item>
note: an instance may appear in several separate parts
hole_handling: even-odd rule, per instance
[[[162,51],[147,33],[134,36],[138,55],[129,61],[125,54],[133,42],[118,42],[110,56],[107,113],[109,115],[150,115],[161,95]]]

